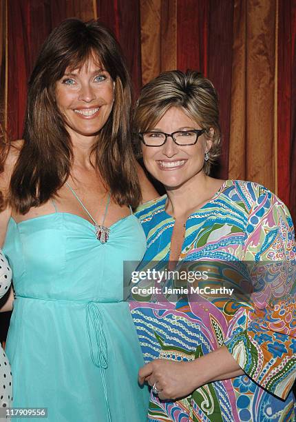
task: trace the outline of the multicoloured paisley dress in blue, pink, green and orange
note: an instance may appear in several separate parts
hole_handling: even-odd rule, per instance
[[[169,260],[174,219],[165,211],[166,199],[136,212],[147,236],[142,268]],[[142,301],[135,295],[130,308],[144,359],[190,361],[224,344],[245,374],[204,385],[178,401],[160,401],[151,392],[149,421],[296,420],[295,259],[290,214],[261,185],[228,180],[189,216],[178,268],[219,261],[237,268],[248,263],[249,274],[256,263],[265,270],[252,281],[253,290],[246,289],[249,296],[192,294],[172,300],[151,294]],[[281,273],[266,270],[269,264]]]

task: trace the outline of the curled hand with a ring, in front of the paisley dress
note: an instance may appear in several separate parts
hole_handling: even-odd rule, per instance
[[[151,387],[155,385],[161,400],[176,400],[199,387],[193,363],[156,359],[140,368],[138,381],[140,384],[147,381]]]

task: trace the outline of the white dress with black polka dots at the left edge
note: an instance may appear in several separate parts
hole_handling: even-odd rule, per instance
[[[8,291],[12,272],[6,257],[0,250],[0,297]],[[0,345],[0,408],[12,407],[12,375],[10,364]]]

